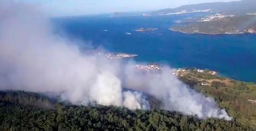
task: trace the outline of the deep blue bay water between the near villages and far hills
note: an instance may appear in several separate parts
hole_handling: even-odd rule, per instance
[[[70,38],[91,43],[94,48],[138,54],[135,60],[140,62],[207,68],[232,79],[256,82],[256,34],[204,35],[168,30],[173,20],[184,17],[189,16],[74,17],[55,23]],[[158,30],[147,34],[134,31],[147,27]]]

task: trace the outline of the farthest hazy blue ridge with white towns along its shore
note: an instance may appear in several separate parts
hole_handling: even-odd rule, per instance
[[[177,8],[166,8],[162,10],[149,12],[115,12],[111,17],[124,16],[154,16],[154,15],[171,15],[192,12],[223,12],[232,15],[244,15],[246,13],[256,13],[256,0],[241,0],[233,2],[213,2],[199,3],[194,5],[182,5]]]

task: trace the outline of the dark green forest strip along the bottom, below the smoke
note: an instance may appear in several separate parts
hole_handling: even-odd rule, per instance
[[[237,121],[200,120],[176,112],[155,109],[131,111],[115,106],[64,106],[39,108],[40,102],[52,104],[31,92],[1,92],[0,130],[12,131],[242,131]],[[14,95],[16,94],[16,95]],[[26,106],[21,103],[31,99]],[[36,100],[37,99],[37,100]],[[41,106],[41,105],[39,105]]]

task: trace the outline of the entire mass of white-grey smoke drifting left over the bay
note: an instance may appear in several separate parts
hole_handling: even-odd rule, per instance
[[[132,64],[81,55],[74,45],[52,34],[48,18],[36,7],[0,1],[0,89],[65,92],[62,98],[73,104],[149,109],[144,92],[163,101],[167,110],[231,119],[213,98],[190,89],[168,67],[142,74]]]

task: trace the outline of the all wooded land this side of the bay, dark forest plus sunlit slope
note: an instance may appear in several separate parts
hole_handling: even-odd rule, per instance
[[[74,106],[35,92],[0,91],[0,131],[254,131],[256,84],[190,71],[180,80],[212,96],[234,119],[198,119],[161,109]],[[200,83],[209,83],[202,86]],[[155,103],[157,104],[157,103]]]

